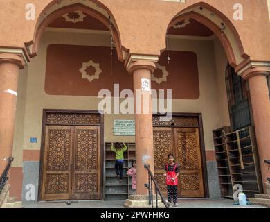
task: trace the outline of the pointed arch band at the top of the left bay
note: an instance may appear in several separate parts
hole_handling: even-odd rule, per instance
[[[79,14],[74,13],[76,11],[78,11]],[[33,41],[26,43],[26,46],[31,46],[31,57],[37,55],[39,41],[46,27],[48,27],[53,21],[55,21],[55,19],[63,15],[66,19],[66,22],[73,23],[83,22],[84,15],[88,15],[90,17],[93,17],[93,19],[98,20],[98,22],[101,23],[102,26],[106,26],[106,28],[103,27],[102,29],[107,29],[108,31],[111,31],[111,36],[113,37],[114,45],[116,46],[118,58],[119,60],[123,60],[122,50],[125,50],[125,48],[121,45],[120,34],[118,31],[116,20],[114,19],[114,16],[111,14],[109,9],[99,1],[96,1],[96,3],[93,3],[91,1],[82,3],[73,3],[72,1],[66,0],[61,1],[60,3],[57,0],[51,1],[51,3],[48,4],[48,6],[46,6],[46,8],[44,8],[44,10],[40,13],[37,19]],[[86,24],[84,24],[84,26],[85,25]],[[78,26],[77,28],[79,27],[80,26]],[[92,24],[92,26],[87,28],[90,29],[95,27],[93,27]]]

